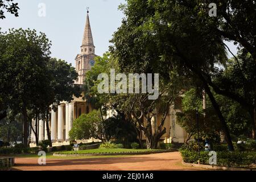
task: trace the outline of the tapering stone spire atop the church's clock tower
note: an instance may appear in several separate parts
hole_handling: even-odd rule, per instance
[[[84,28],[84,37],[82,38],[81,53],[82,55],[94,53],[94,48],[95,46],[93,44],[92,30],[90,29],[89,9],[87,9],[87,17]]]

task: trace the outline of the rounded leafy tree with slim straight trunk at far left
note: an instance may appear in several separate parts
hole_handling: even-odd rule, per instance
[[[0,32],[0,40],[0,97],[14,113],[22,113],[23,144],[27,146],[27,110],[44,90],[51,43],[42,32],[37,35],[35,30],[21,28]]]

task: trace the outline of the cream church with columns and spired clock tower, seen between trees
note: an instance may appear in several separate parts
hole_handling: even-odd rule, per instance
[[[86,23],[84,28],[84,35],[82,38],[82,45],[80,47],[80,53],[75,57],[75,67],[78,73],[78,78],[75,80],[76,85],[82,85],[86,79],[85,74],[94,65],[95,46],[93,43],[92,30],[90,28],[89,12],[87,12]],[[49,121],[49,129],[51,131],[51,140],[53,146],[60,146],[69,144],[69,131],[72,129],[74,119],[80,117],[81,114],[87,114],[92,111],[92,106],[83,100],[82,97],[74,97],[71,102],[61,102],[59,106],[56,106],[57,110],[51,110],[51,117]],[[176,104],[170,107],[169,114],[167,115],[164,127],[166,127],[166,134],[162,136],[160,140],[164,143],[184,143],[187,138],[187,133],[176,123],[176,112],[181,111],[181,100],[178,100]],[[111,115],[111,112],[109,113]],[[156,130],[158,126],[158,116],[152,120],[153,130]],[[35,126],[35,120],[32,120],[32,127]],[[35,127],[34,127],[35,128]],[[154,131],[153,131],[154,132]],[[38,127],[38,139],[39,142],[47,140],[46,122],[39,121]],[[94,139],[83,140],[81,142],[92,142]],[[31,144],[35,146],[35,134],[31,131]]]

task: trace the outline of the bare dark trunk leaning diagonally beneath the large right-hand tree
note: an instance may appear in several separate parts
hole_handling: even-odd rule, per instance
[[[221,110],[220,110],[220,107],[218,106],[212,92],[210,91],[210,88],[209,88],[208,84],[205,83],[204,85],[205,85],[205,92],[208,94],[208,96],[210,98],[210,101],[212,102],[212,105],[213,105],[214,109],[217,112],[218,118],[220,119],[220,122],[221,122],[221,125],[222,125],[222,130],[224,132],[226,142],[228,143],[229,151],[234,151],[232,139],[230,137],[229,129],[228,129],[228,126],[226,125],[225,118],[223,117],[223,115],[221,113]]]

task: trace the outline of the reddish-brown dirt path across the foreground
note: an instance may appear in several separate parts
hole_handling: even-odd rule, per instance
[[[179,152],[162,154],[135,155],[116,158],[91,159],[47,159],[47,164],[40,166],[38,158],[15,158],[15,169],[28,171],[52,170],[201,170],[181,164]]]

